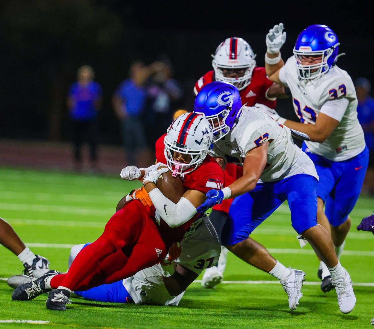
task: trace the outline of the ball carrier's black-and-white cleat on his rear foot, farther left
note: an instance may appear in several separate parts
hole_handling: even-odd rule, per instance
[[[12,300],[13,301],[30,301],[35,297],[42,295],[49,291],[50,289],[45,288],[45,279],[51,275],[60,274],[58,271],[54,271],[53,269],[46,272],[46,274],[42,275],[40,278],[32,278],[32,280],[28,283],[21,284],[18,286],[12,293]]]

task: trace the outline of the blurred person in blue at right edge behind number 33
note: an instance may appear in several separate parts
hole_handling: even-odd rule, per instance
[[[364,130],[365,143],[369,149],[369,165],[366,172],[363,192],[374,196],[374,98],[369,96],[371,83],[368,79],[360,77],[355,80],[358,100],[357,117]]]

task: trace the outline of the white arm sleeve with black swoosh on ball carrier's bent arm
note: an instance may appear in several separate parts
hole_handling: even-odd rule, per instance
[[[170,227],[177,227],[187,222],[196,213],[195,206],[188,199],[181,197],[178,203],[170,201],[158,188],[148,193],[154,207]]]

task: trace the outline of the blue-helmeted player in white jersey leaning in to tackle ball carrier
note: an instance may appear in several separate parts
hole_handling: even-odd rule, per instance
[[[226,161],[236,158],[243,165],[242,177],[220,191],[209,191],[206,201],[197,209],[205,211],[223,199],[235,197],[221,235],[222,243],[244,261],[252,265],[254,261],[261,263],[262,255],[251,258],[249,235],[288,200],[292,227],[328,266],[340,311],[352,311],[356,302],[352,281],[337,259],[330,235],[317,223],[318,175],[313,162],[291,137],[296,134],[307,139],[307,135],[291,132],[257,107],[242,107],[239,91],[226,82],[203,87],[196,97],[194,111],[205,115],[214,127],[214,147],[209,153]],[[275,260],[273,264],[263,262],[266,266],[270,274],[279,271],[293,276],[298,287],[296,308],[304,273],[279,266]]]

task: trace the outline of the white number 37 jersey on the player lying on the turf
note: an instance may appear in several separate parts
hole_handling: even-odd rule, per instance
[[[200,274],[203,269],[218,263],[221,253],[221,244],[214,226],[203,217],[202,223],[196,228],[193,235],[181,241],[183,250],[180,257],[172,262]],[[132,277],[122,281],[135,304],[151,305],[178,305],[184,292],[178,296],[170,296],[162,279],[161,265],[137,272]]]

